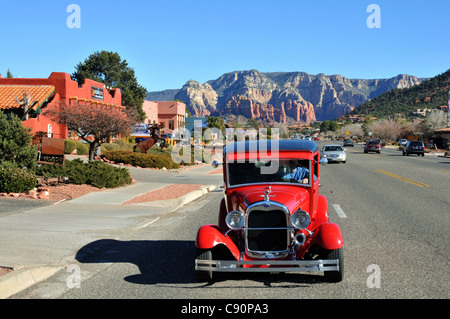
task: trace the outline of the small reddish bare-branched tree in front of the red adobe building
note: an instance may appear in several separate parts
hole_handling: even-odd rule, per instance
[[[89,160],[102,141],[128,133],[131,120],[123,108],[88,103],[55,103],[47,106],[43,115],[56,123],[67,125],[82,140],[89,143]]]

